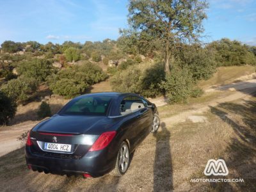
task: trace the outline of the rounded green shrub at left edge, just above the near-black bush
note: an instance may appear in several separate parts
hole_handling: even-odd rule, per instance
[[[36,91],[36,79],[33,77],[20,76],[4,84],[1,90],[16,102],[25,102]]]

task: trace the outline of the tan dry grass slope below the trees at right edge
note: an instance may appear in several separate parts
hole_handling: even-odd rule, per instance
[[[199,86],[202,88],[207,88],[216,84],[232,83],[238,77],[252,74],[253,72],[255,72],[255,67],[250,65],[219,67],[211,79],[201,81]]]

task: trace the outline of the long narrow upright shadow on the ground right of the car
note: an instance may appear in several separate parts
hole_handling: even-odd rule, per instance
[[[156,154],[154,160],[154,191],[173,190],[173,168],[170,148],[170,131],[164,122],[162,131],[156,132]]]

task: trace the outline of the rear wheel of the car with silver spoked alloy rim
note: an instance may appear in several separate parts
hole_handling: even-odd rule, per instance
[[[120,177],[127,172],[130,164],[130,150],[125,141],[122,142],[116,157],[115,168],[109,173],[112,176]]]

